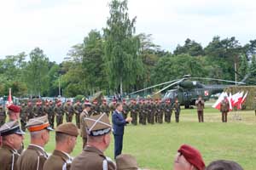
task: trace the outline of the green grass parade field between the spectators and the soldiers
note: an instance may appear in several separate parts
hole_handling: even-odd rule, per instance
[[[191,144],[201,150],[208,164],[213,160],[227,159],[237,161],[245,170],[256,168],[256,116],[254,111],[239,111],[241,120],[230,112],[228,122],[221,122],[218,110],[207,107],[205,122],[197,122],[196,110],[182,110],[180,122],[154,125],[128,125],[125,127],[123,153],[136,156],[140,167],[147,169],[172,169],[173,159],[181,144]],[[45,149],[52,152],[55,148],[55,133]],[[25,145],[29,144],[26,133]],[[82,140],[73,150],[72,156],[78,156],[82,150]],[[106,151],[113,158],[113,139]]]

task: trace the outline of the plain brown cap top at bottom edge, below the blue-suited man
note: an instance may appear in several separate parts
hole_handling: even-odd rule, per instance
[[[119,155],[116,157],[115,161],[118,170],[139,169],[136,158],[129,154]]]

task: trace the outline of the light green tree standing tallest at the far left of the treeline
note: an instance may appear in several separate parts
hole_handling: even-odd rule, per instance
[[[26,85],[30,94],[41,96],[49,88],[49,59],[40,48],[34,48],[29,57],[26,65]]]

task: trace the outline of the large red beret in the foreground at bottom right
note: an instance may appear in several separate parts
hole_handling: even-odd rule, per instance
[[[180,152],[190,164],[194,165],[198,170],[204,170],[206,165],[202,159],[201,153],[199,150],[196,150],[188,144],[183,144],[177,150]]]

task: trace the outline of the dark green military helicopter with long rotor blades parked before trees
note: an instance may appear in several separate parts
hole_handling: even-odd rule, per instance
[[[234,82],[234,81],[223,80],[223,79],[191,77],[190,75],[185,75],[180,79],[172,80],[170,82],[162,82],[160,84],[156,84],[148,88],[143,88],[129,95],[141,93],[150,88],[156,88],[156,87],[160,87],[167,84],[165,88],[161,88],[159,91],[155,92],[153,96],[156,94],[160,94],[161,92],[165,91],[167,88],[172,88],[171,90],[166,91],[166,94],[164,94],[162,101],[165,101],[166,99],[171,99],[171,101],[174,102],[175,99],[178,99],[180,104],[184,105],[184,107],[188,109],[190,108],[190,105],[195,105],[195,100],[198,98],[198,96],[201,96],[202,99],[207,101],[210,99],[212,94],[221,93],[223,92],[224,88],[234,86],[234,85],[219,85],[219,84],[205,85],[201,82],[193,81],[193,80],[229,82],[229,83],[236,83],[237,85],[242,85],[242,84],[245,84],[244,81],[246,79],[247,77],[245,77],[241,82]]]

